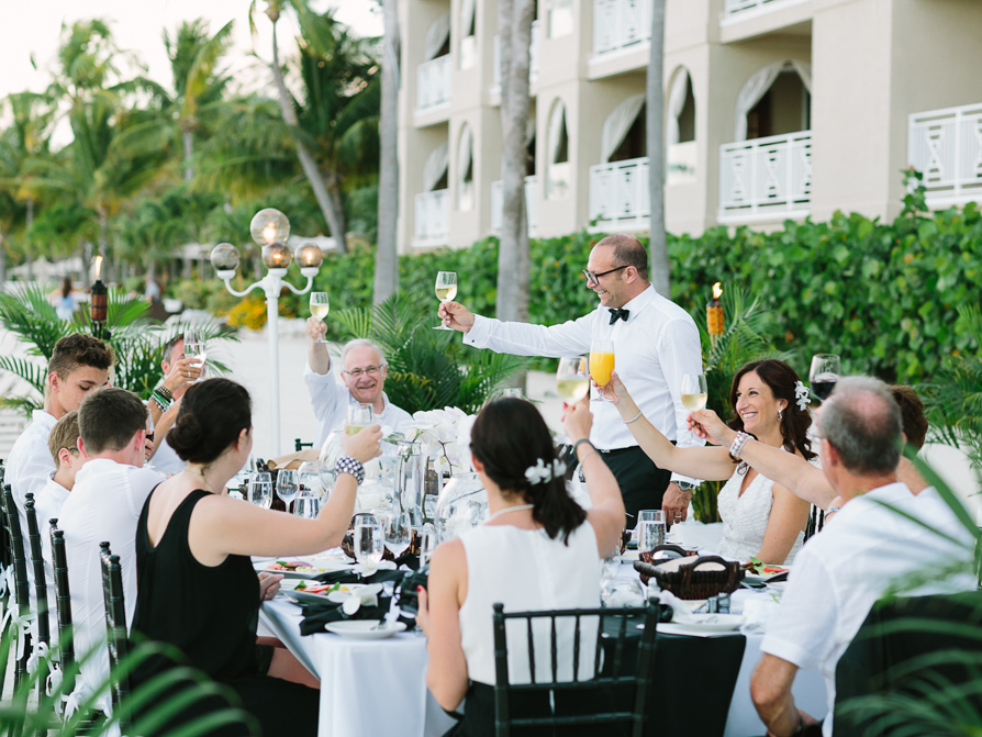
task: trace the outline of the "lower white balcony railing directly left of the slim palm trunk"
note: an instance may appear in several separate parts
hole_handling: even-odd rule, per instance
[[[648,226],[648,157],[590,167],[590,220],[598,226],[640,230]]]

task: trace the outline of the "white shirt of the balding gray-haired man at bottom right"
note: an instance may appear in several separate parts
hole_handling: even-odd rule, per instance
[[[883,506],[890,504],[939,534]],[[872,605],[892,584],[916,580],[915,572],[963,565],[964,573],[931,581],[910,595],[973,591],[974,540],[934,489],[916,496],[891,483],[849,501],[797,554],[781,604],[768,622],[760,649],[799,668],[818,666],[825,677],[830,737],[836,697],[836,663],[859,632]]]

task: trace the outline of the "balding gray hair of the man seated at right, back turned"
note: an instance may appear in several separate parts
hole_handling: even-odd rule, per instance
[[[871,377],[846,377],[836,384],[818,417],[825,439],[856,476],[896,470],[903,438],[901,412],[890,388]]]

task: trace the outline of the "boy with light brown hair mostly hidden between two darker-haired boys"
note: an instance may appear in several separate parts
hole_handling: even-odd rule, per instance
[[[48,618],[52,638],[58,638],[58,610],[55,600],[55,567],[52,558],[52,520],[62,516],[62,505],[75,487],[75,477],[86,459],[78,449],[78,411],[72,411],[55,423],[47,440],[56,470],[37,493],[34,509],[41,531],[41,554],[47,584]]]

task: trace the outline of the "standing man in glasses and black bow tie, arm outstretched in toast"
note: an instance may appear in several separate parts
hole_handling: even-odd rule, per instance
[[[631,235],[610,235],[590,252],[583,273],[600,304],[561,325],[505,323],[475,315],[458,302],[443,303],[439,316],[464,333],[468,345],[496,353],[565,357],[591,353],[594,343],[612,343],[614,370],[639,393],[645,416],[681,447],[703,445],[687,429],[689,411],[680,393],[683,375],[702,373],[699,330],[684,310],[655,291],[644,245]],[[590,440],[621,485],[627,526],[634,527],[638,511],[647,509],[665,510],[671,524],[684,521],[696,480],[655,466],[613,404],[598,401],[591,410]]]

